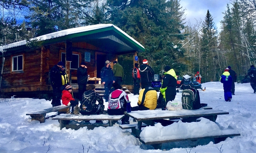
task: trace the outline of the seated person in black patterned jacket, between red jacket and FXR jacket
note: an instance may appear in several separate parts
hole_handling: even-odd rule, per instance
[[[99,104],[96,104],[96,100]],[[80,113],[82,115],[100,115],[104,111],[103,98],[95,92],[95,85],[88,85],[87,91],[82,95],[82,101],[80,101]],[[102,121],[96,121],[96,123],[103,123]]]

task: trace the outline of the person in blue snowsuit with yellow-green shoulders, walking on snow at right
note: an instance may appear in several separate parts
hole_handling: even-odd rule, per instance
[[[230,76],[230,73],[228,72],[228,68],[225,69],[224,73],[221,75],[221,78],[219,79],[221,83],[223,83],[223,89],[224,89],[224,98],[226,102],[230,102],[232,99],[232,77]]]

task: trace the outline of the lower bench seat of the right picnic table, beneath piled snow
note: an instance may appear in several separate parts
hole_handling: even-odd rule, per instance
[[[150,141],[150,142],[145,142],[143,139],[139,138],[139,140],[146,145],[152,145],[154,149],[161,149],[163,143],[168,143],[168,142],[178,142],[178,141],[187,141],[187,140],[199,140],[199,139],[208,139],[208,138],[213,138],[214,143],[217,144],[221,141],[226,140],[228,137],[233,137],[233,136],[240,136],[241,134],[237,131],[234,130],[222,130],[223,134],[216,134],[216,135],[208,135],[208,136],[198,136],[198,137],[193,137],[193,138],[178,138],[178,139],[169,139],[169,140],[158,140],[158,141]]]

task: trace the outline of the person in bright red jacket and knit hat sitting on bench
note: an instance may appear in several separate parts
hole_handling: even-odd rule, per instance
[[[66,106],[72,106],[71,111],[74,112],[74,106],[78,105],[78,100],[75,100],[71,94],[72,87],[67,85],[65,89],[62,91],[62,104]],[[77,106],[78,107],[78,106]]]

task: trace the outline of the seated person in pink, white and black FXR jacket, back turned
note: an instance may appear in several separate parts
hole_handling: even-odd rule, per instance
[[[126,92],[122,90],[121,85],[118,83],[113,83],[112,85],[115,91],[109,95],[108,115],[124,115],[129,98]],[[122,124],[130,124],[129,116],[125,116],[121,121]]]

